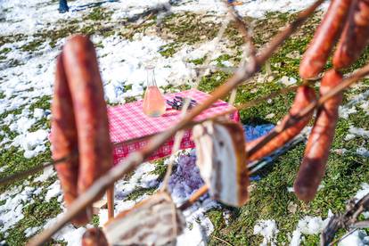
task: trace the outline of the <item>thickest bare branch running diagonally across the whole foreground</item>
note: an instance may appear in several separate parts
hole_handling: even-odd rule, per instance
[[[122,160],[118,166],[111,168],[111,170],[100,177],[96,182],[83,194],[81,194],[76,201],[74,201],[70,209],[61,217],[59,221],[53,224],[51,227],[45,229],[41,234],[33,237],[29,245],[41,245],[45,243],[49,238],[53,236],[62,226],[66,225],[70,220],[78,215],[78,212],[85,209],[89,204],[91,204],[95,197],[100,193],[105,191],[111,184],[119,180],[121,176],[127,174],[127,172],[132,171],[138,167],[143,160],[146,160],[152,152],[157,150],[161,144],[165,143],[169,137],[175,135],[177,131],[186,127],[187,124],[191,123],[193,119],[198,116],[202,111],[208,109],[214,102],[218,99],[223,98],[228,94],[235,86],[238,86],[242,81],[250,78],[255,73],[257,73],[262,64],[269,59],[272,53],[275,52],[279,45],[282,45],[285,38],[289,37],[291,33],[297,29],[299,25],[311,15],[316,8],[324,0],[317,0],[315,4],[307,8],[306,11],[301,12],[296,21],[293,21],[286,29],[278,34],[269,45],[266,46],[265,51],[262,51],[260,55],[257,56],[256,62],[250,62],[242,70],[238,70],[233,77],[229,78],[225,84],[218,86],[217,89],[211,94],[207,100],[198,104],[189,111],[188,114],[184,116],[175,126],[170,127],[167,131],[161,133],[160,135],[155,135],[152,137],[151,141],[143,148],[140,152],[134,152],[128,155],[127,159]]]

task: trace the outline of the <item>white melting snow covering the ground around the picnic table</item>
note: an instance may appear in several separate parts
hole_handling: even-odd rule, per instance
[[[192,85],[197,74],[196,61],[204,59],[207,54],[211,55],[211,65],[235,66],[237,57],[240,57],[240,49],[234,45],[234,41],[225,38],[216,49],[211,45],[214,33],[210,30],[217,29],[225,20],[224,5],[211,0],[172,2],[175,4],[170,10],[175,13],[175,17],[173,20],[166,19],[167,29],[158,33],[155,20],[160,21],[168,16],[159,15],[155,20],[151,18],[143,22],[129,20],[140,16],[156,4],[165,4],[168,7],[168,1],[164,0],[70,1],[70,12],[66,14],[57,12],[57,1],[0,0],[0,146],[4,149],[0,163],[2,176],[27,168],[27,163],[35,165],[50,159],[47,135],[50,133],[54,61],[60,53],[61,45],[71,33],[92,35],[102,73],[105,99],[111,104],[141,98],[146,78],[144,67],[147,64],[155,65],[157,82],[164,91]],[[244,4],[237,8],[243,16],[263,20],[268,12],[297,12],[313,2],[244,0]],[[95,6],[92,3],[100,5]],[[323,8],[326,8],[326,4]],[[186,34],[171,28],[178,23],[182,25],[188,16],[200,23],[200,29],[196,29],[199,34],[194,35],[198,37],[191,37],[195,41],[186,39]],[[135,26],[138,24],[143,25]],[[201,29],[206,31],[200,33]],[[234,59],[222,60],[225,54]],[[295,84],[297,78],[283,75],[276,82],[289,86]],[[341,119],[349,119],[350,116],[362,112],[367,114],[368,95],[367,92],[362,92],[349,98],[340,109]],[[265,119],[274,119],[276,114],[267,114]],[[349,122],[345,139],[349,141],[356,138],[367,141],[369,129]],[[355,152],[367,158],[369,148],[365,143],[367,142],[355,149],[340,148],[333,151],[340,154]],[[202,184],[194,167],[194,158],[193,152],[184,152],[176,161],[177,168],[171,177],[170,187],[177,203],[188,198]],[[23,163],[21,168],[17,167],[17,161]],[[144,163],[132,176],[119,181],[115,187],[116,212],[131,208],[135,202],[142,201],[153,193],[160,186],[162,178],[162,171],[158,167],[165,167],[166,163],[166,160],[157,165]],[[367,184],[363,184],[362,188],[357,187],[357,191],[359,189],[361,192],[358,193],[361,195],[368,192]],[[42,228],[52,225],[65,209],[62,205],[60,183],[50,168],[39,176],[32,176],[1,192],[1,244],[16,245],[20,241],[24,242]],[[214,208],[222,209],[219,204],[205,197],[200,203],[187,209],[184,215],[188,227],[184,235],[178,238],[177,244],[206,243],[209,234],[215,229],[206,212]],[[39,212],[42,209],[45,209],[45,214],[41,219],[32,218],[33,211]],[[227,209],[224,210],[226,218]],[[325,218],[329,217],[327,211],[324,213],[326,216],[323,218],[309,215],[300,217],[285,243],[299,245],[304,241],[305,234],[318,234],[326,223]],[[98,221],[94,225],[102,225],[106,217],[106,211],[102,210],[99,217],[94,217],[94,222]],[[258,220],[251,227],[254,234],[262,236],[261,242],[273,244],[277,242],[278,226],[273,218],[266,218]],[[76,245],[85,230],[83,227],[77,229],[67,225],[53,239],[55,242],[64,241],[69,245]],[[346,245],[363,245],[360,243],[366,243],[368,239],[365,231],[360,231],[350,235],[342,243],[345,242]]]

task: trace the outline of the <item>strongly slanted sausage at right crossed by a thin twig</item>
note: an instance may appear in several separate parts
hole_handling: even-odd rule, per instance
[[[295,100],[291,106],[291,110],[289,114],[283,118],[281,124],[284,125],[289,119],[291,119],[291,116],[298,114],[299,111],[307,107],[310,102],[314,101],[316,101],[316,93],[314,89],[309,86],[299,86],[295,96]],[[311,112],[306,117],[304,117],[304,119],[299,120],[299,122],[296,123],[294,126],[288,127],[287,129],[283,130],[283,132],[275,136],[275,138],[266,143],[257,152],[250,154],[249,161],[251,162],[254,160],[260,160],[261,158],[268,156],[270,153],[275,152],[275,150],[282,147],[285,143],[291,141],[291,139],[298,135],[299,132],[307,125],[312,116],[313,113]],[[250,149],[261,142],[265,137],[266,136],[261,136],[251,141],[250,143],[247,143],[246,152],[250,152]]]

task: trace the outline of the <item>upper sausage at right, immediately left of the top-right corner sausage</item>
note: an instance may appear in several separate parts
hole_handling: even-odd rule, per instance
[[[351,0],[332,0],[299,65],[301,78],[315,78],[323,70],[347,19],[351,2]]]

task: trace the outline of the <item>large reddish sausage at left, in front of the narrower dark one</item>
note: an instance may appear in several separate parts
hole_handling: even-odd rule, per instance
[[[93,43],[82,35],[70,37],[62,57],[78,129],[80,194],[112,167],[108,115]]]

